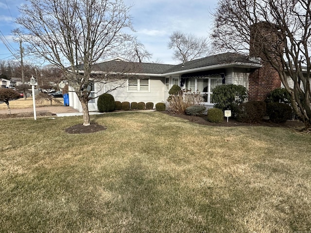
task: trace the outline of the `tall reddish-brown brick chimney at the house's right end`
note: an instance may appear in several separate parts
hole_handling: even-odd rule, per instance
[[[265,46],[265,45],[268,45]],[[265,100],[268,94],[281,86],[281,80],[274,67],[267,62],[263,49],[270,54],[281,52],[282,46],[276,34],[276,27],[268,22],[253,24],[250,29],[250,57],[260,57],[262,67],[249,74],[248,100]]]

